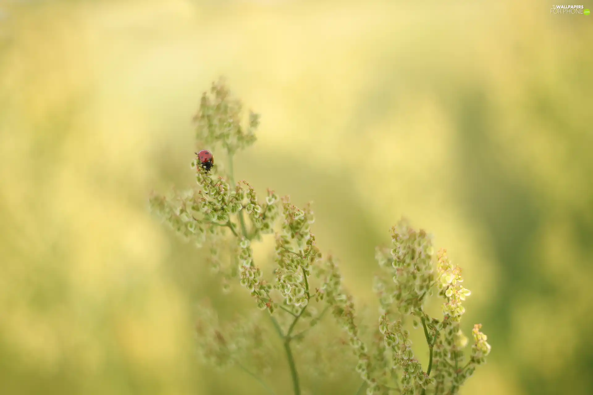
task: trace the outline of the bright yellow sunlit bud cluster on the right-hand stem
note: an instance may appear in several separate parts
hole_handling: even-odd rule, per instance
[[[439,295],[445,298],[443,304],[443,313],[450,316],[451,319],[459,320],[461,314],[465,313],[466,308],[461,306],[461,302],[471,294],[461,285],[461,268],[453,266],[447,257],[447,251],[441,249],[438,253],[438,282]]]

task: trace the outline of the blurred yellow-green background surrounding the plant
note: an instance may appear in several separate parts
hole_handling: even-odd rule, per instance
[[[493,351],[462,394],[593,393],[593,16],[550,8],[0,2],[0,392],[261,393],[197,360],[200,298],[242,302],[147,205],[224,75],[262,114],[237,178],[314,201],[358,301],[401,216],[463,266]]]

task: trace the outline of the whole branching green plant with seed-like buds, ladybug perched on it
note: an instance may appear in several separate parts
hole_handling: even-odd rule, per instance
[[[317,248],[311,232],[311,206],[298,208],[288,197],[279,198],[270,190],[260,198],[248,182],[234,181],[234,153],[255,142],[254,131],[259,125],[255,113],[249,114],[245,124],[241,110],[241,103],[231,97],[224,82],[212,84],[209,94],[203,94],[195,117],[196,137],[212,152],[220,148],[228,157],[228,165],[224,168],[216,161],[211,171],[196,159],[192,168],[198,188],[167,197],[154,194],[150,199],[151,207],[173,229],[197,246],[210,248],[209,261],[222,274],[224,290],[240,284],[263,310],[224,325],[218,323],[211,307],[202,306],[196,331],[205,360],[218,367],[235,364],[274,393],[260,378],[271,369],[268,355],[274,350],[268,339],[273,330],[282,341],[295,395],[302,393],[295,351],[303,358],[320,361],[327,358],[324,352],[345,348],[351,349],[353,358],[341,358],[340,368],[356,371],[362,381],[360,387],[353,388],[353,395],[365,388],[369,395],[457,393],[490,352],[478,324],[472,331],[470,354],[464,358],[468,339],[461,331],[460,320],[465,312],[463,301],[470,291],[462,285],[461,269],[449,261],[444,250],[435,256],[431,235],[401,220],[391,230],[391,248],[376,251],[378,320],[375,325],[369,320],[360,322],[354,298],[343,286],[337,260],[322,255]],[[254,261],[251,249],[251,243],[261,241],[264,235],[275,237],[275,269],[270,276]],[[442,316],[438,318],[423,308],[432,294],[442,298]],[[333,324],[325,320],[320,325],[326,314],[333,317]],[[262,321],[263,316],[271,325]],[[412,350],[406,329],[410,321],[415,328],[422,326],[428,343],[425,367]],[[337,341],[331,325],[342,329]],[[318,330],[318,326],[325,326],[329,333]],[[323,348],[311,352],[302,346],[307,336],[320,333],[328,336]],[[249,369],[246,360],[250,360]]]

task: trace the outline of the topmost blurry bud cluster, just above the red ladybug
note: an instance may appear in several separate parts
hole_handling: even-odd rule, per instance
[[[208,146],[221,143],[229,154],[244,149],[256,141],[254,131],[259,126],[259,115],[250,111],[247,126],[242,126],[243,105],[231,98],[229,89],[220,79],[212,84],[210,95],[204,92],[200,108],[194,117],[196,137]]]

